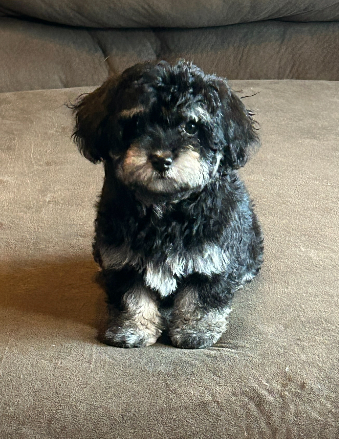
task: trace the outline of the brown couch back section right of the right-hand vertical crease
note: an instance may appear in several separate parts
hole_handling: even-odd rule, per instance
[[[167,61],[186,58],[230,79],[339,80],[339,23],[271,20],[155,35]]]

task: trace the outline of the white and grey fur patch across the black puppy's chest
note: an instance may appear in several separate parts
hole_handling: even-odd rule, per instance
[[[161,297],[170,295],[177,289],[180,278],[192,273],[207,276],[227,271],[229,265],[228,253],[216,244],[206,244],[202,249],[178,254],[168,252],[161,262],[145,258],[133,252],[128,245],[103,246],[100,249],[103,268],[121,270],[124,266],[133,266],[143,273],[144,282]]]

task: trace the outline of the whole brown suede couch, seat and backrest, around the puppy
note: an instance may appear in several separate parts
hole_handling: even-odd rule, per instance
[[[0,437],[339,437],[339,2],[0,0]],[[213,347],[101,344],[103,169],[64,105],[146,59],[230,79],[265,262]]]

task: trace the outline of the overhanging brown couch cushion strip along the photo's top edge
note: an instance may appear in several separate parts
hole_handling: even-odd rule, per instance
[[[72,26],[194,28],[284,17],[334,21],[339,19],[339,1],[0,0],[0,12]]]

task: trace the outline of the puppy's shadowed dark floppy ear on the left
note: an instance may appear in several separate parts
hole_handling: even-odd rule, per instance
[[[90,162],[105,160],[108,140],[105,136],[108,117],[116,89],[116,79],[109,78],[92,93],[80,95],[75,104],[69,105],[76,114],[76,126],[72,133],[81,154]]]

